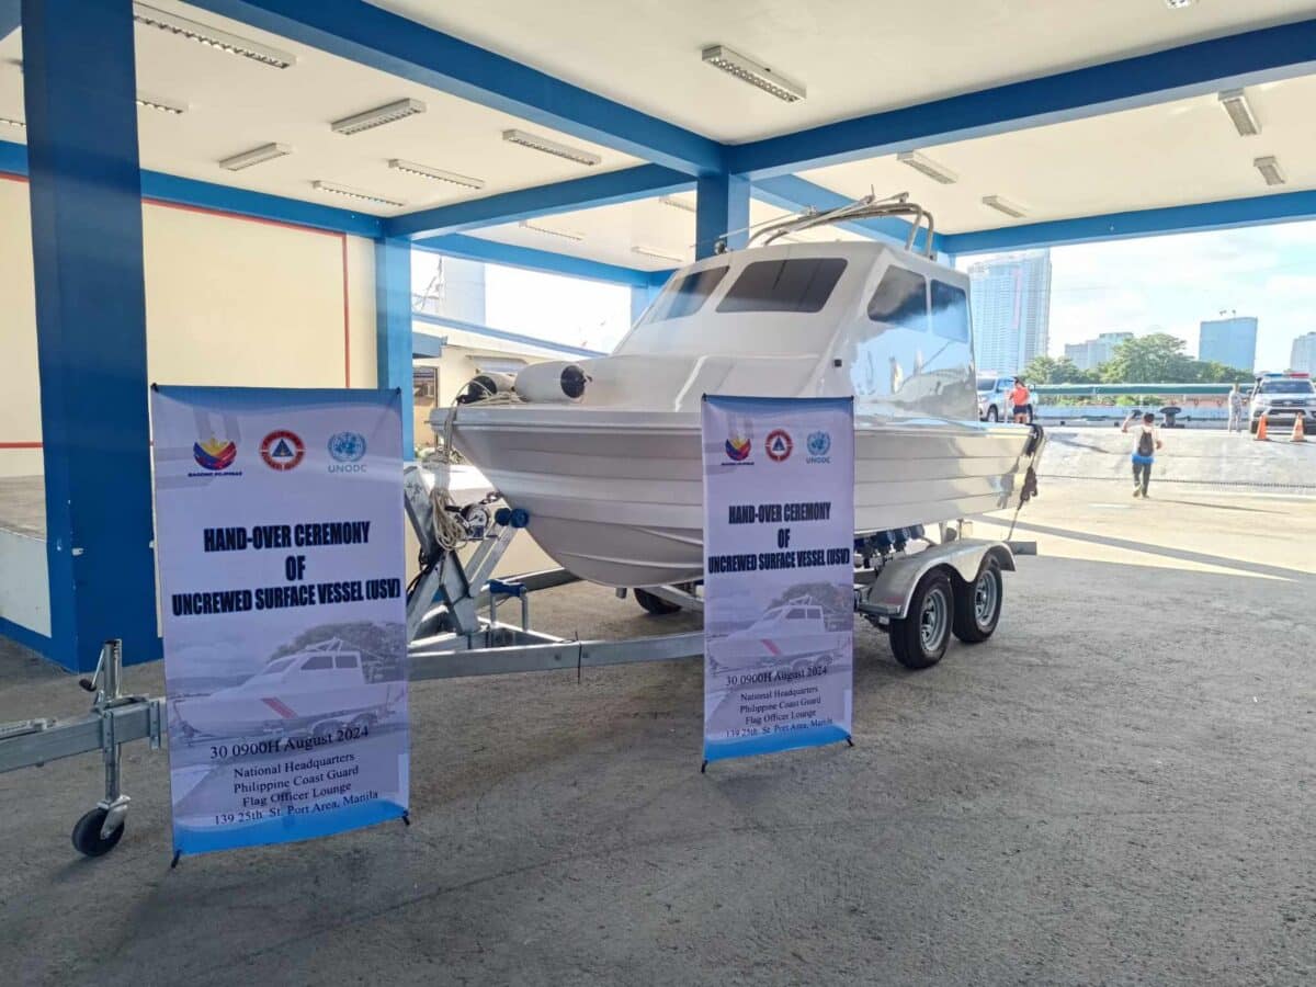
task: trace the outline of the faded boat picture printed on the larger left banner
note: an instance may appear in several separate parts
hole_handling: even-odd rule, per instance
[[[275,658],[237,686],[180,700],[174,712],[188,737],[272,730],[325,734],[342,726],[374,726],[403,695],[400,682],[368,682],[361,653],[333,640]]]

